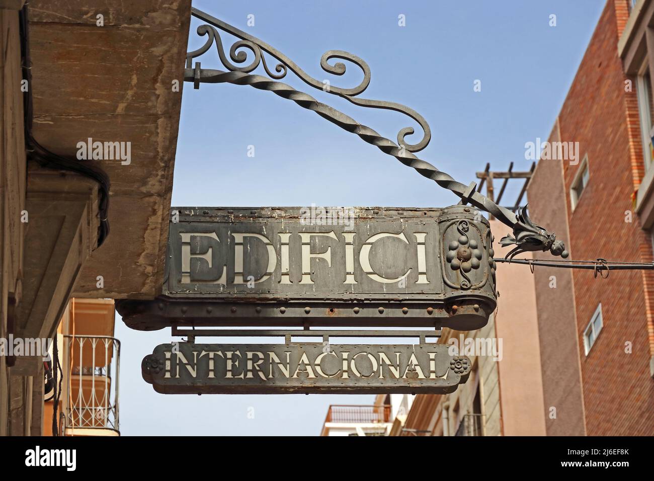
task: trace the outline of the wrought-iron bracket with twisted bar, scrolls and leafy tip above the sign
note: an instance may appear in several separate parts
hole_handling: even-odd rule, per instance
[[[349,52],[344,52],[342,50],[330,50],[323,54],[320,65],[325,71],[332,73],[334,75],[343,75],[345,73],[345,65],[341,62],[337,62],[335,65],[330,65],[329,60],[333,58],[339,58],[341,60],[349,60],[358,67],[360,67],[364,73],[364,79],[358,86],[354,88],[340,88],[336,86],[330,86],[328,89],[323,89],[324,83],[320,82],[317,79],[314,79],[305,71],[303,71],[295,62],[290,60],[284,54],[276,50],[275,48],[267,45],[267,43],[241,31],[222,20],[202,12],[201,10],[192,8],[191,14],[196,18],[199,18],[209,25],[203,25],[198,27],[198,35],[207,35],[207,41],[205,45],[201,46],[198,50],[188,52],[186,54],[186,68],[184,69],[184,81],[192,82],[194,88],[199,88],[200,83],[231,83],[236,85],[249,85],[259,90],[267,90],[273,92],[275,95],[282,98],[292,100],[296,104],[300,105],[304,109],[314,111],[318,115],[322,116],[326,120],[336,124],[343,130],[351,132],[358,135],[361,139],[375,145],[379,150],[394,156],[405,166],[415,169],[422,176],[427,177],[435,181],[440,187],[447,188],[456,196],[458,196],[461,201],[460,204],[466,205],[470,204],[476,207],[479,210],[483,210],[487,213],[493,215],[498,221],[508,225],[513,229],[513,236],[505,236],[500,240],[501,245],[511,245],[515,244],[515,248],[511,251],[511,257],[527,251],[550,251],[553,255],[557,255],[563,258],[568,257],[568,251],[565,250],[565,245],[562,241],[557,241],[556,236],[553,232],[549,232],[545,228],[538,226],[537,224],[532,223],[526,214],[526,208],[520,209],[519,213],[516,215],[509,209],[497,205],[492,200],[481,194],[476,190],[476,183],[471,183],[466,186],[460,182],[455,181],[453,177],[448,175],[445,172],[439,171],[432,164],[422,160],[417,157],[413,152],[419,152],[429,143],[431,139],[430,128],[424,120],[424,118],[419,115],[413,109],[409,109],[404,105],[394,102],[379,101],[372,99],[362,99],[355,98],[354,96],[364,92],[370,84],[370,67],[368,63],[364,60],[358,58],[357,56],[350,54]],[[254,59],[247,65],[238,66],[234,65],[230,60],[228,60],[225,55],[224,49],[222,47],[222,41],[220,39],[220,33],[218,29],[226,31],[235,37],[241,39],[232,45],[230,48],[230,59],[239,64],[243,64],[247,61],[247,54],[241,48],[247,48],[254,54]],[[211,48],[213,43],[216,43],[216,50],[218,50],[218,56],[223,65],[228,69],[228,71],[221,71],[216,69],[202,69],[200,62],[193,63],[193,59],[201,56]],[[267,52],[280,63],[275,65],[275,72],[269,69],[266,59],[263,52]],[[250,72],[254,71],[260,64],[263,65],[266,74],[269,77],[264,77],[262,75],[252,74]],[[356,122],[353,118],[348,115],[345,115],[341,111],[330,107],[322,102],[317,101],[317,99],[296,90],[288,84],[279,82],[279,79],[283,79],[288,73],[288,69],[293,71],[301,80],[305,83],[324,90],[330,94],[338,95],[341,98],[345,98],[355,105],[360,105],[362,107],[372,107],[378,109],[390,109],[404,113],[405,115],[410,116],[416,120],[422,127],[424,135],[422,140],[413,145],[407,145],[404,142],[404,139],[407,135],[413,134],[414,130],[411,127],[406,127],[398,132],[398,143],[392,142],[390,139],[381,136],[375,130],[371,129],[368,126]]]

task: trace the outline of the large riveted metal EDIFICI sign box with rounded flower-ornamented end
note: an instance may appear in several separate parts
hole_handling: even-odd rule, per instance
[[[465,205],[177,208],[154,301],[116,303],[134,329],[171,325],[479,329],[496,305],[490,229]]]

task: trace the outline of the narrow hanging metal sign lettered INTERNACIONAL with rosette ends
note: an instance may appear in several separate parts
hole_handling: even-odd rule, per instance
[[[163,394],[432,393],[466,382],[445,344],[161,344],[141,364]]]

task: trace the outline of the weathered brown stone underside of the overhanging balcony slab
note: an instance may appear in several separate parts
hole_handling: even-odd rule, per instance
[[[73,158],[78,142],[88,138],[131,146],[129,164],[92,161],[111,179],[111,233],[82,268],[76,297],[154,298],[160,292],[190,4],[29,3],[37,141]],[[97,276],[104,279],[101,289]]]

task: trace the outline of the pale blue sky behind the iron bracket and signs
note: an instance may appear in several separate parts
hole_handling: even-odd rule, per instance
[[[514,170],[528,169],[525,143],[548,137],[604,1],[194,0],[193,5],[262,39],[332,86],[356,86],[362,77],[351,63],[342,77],[322,71],[326,50],[363,58],[372,77],[360,97],[403,103],[421,113],[432,141],[419,157],[468,184],[486,162],[496,170],[511,161]],[[400,14],[404,27],[398,26]],[[549,26],[551,14],[555,27]],[[204,43],[196,34],[199,25],[192,21],[188,50]],[[228,50],[235,38],[221,35]],[[199,61],[203,68],[224,69],[215,47]],[[261,68],[256,73],[264,74]],[[481,80],[481,92],[473,90],[475,80]],[[282,81],[385,137],[394,140],[398,130],[413,126],[417,133],[407,141],[421,138],[417,124],[399,113],[356,107],[292,73]],[[247,155],[250,145],[254,157]],[[505,194],[508,203],[515,190]],[[184,86],[173,206],[456,202],[454,194],[292,101],[247,86]],[[116,336],[122,341],[123,435],[318,435],[329,404],[373,399],[159,395],[141,379],[141,359],[156,344],[170,342],[170,332],[129,330],[118,317]]]

